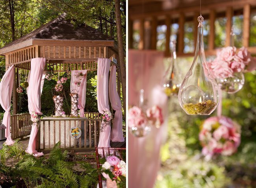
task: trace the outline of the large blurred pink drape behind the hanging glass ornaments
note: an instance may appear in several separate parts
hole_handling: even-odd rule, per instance
[[[160,87],[164,72],[163,53],[153,50],[128,51],[128,105],[139,104],[144,90],[145,107],[158,105],[166,117],[167,96]],[[152,188],[160,167],[160,147],[166,138],[166,124],[151,127],[149,135],[136,138],[128,132],[128,187]]]

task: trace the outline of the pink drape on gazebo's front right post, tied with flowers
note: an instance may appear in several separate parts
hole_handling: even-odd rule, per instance
[[[110,59],[98,58],[97,102],[98,102],[98,111],[101,114],[103,114],[104,111],[109,111],[109,104],[108,104],[109,69],[110,69]],[[111,130],[110,125],[107,125],[104,131],[100,131],[98,147],[110,147],[110,130]],[[102,155],[102,153],[100,153],[100,155]]]

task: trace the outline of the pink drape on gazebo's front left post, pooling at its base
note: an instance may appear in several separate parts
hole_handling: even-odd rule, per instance
[[[43,71],[45,68],[45,58],[38,57],[31,59],[31,70],[28,77],[28,110],[30,114],[36,112],[37,114],[41,115],[41,86],[42,84],[42,77]],[[43,155],[43,152],[37,152],[35,150],[35,138],[37,136],[38,131],[38,123],[32,124],[32,129],[30,133],[30,140],[28,142],[28,148],[26,149],[26,153],[33,154],[35,157],[39,157]]]

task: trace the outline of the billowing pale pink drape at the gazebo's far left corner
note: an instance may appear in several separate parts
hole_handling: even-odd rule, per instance
[[[4,74],[1,83],[0,83],[0,104],[4,109],[4,118],[3,124],[6,126],[5,137],[7,145],[12,145],[14,143],[11,139],[11,130],[10,130],[10,120],[11,120],[11,92],[13,91],[13,77],[15,73],[15,67],[11,66],[6,73]]]

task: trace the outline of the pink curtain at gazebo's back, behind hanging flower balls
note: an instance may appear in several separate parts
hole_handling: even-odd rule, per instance
[[[84,76],[81,80],[76,78],[76,74],[82,72]],[[78,87],[76,82],[81,82],[80,87]],[[72,70],[71,71],[71,81],[70,81],[70,92],[78,93],[78,108],[80,109],[80,117],[84,117],[85,108],[85,98],[86,98],[86,83],[87,83],[87,70]]]

